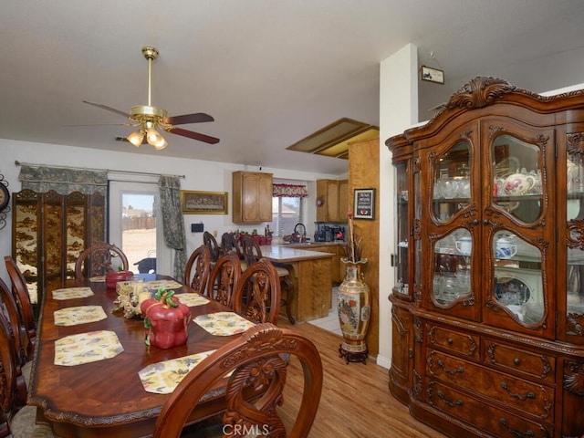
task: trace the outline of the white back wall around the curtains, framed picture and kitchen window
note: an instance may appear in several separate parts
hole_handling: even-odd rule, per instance
[[[107,169],[122,172],[152,172],[172,175],[184,175],[181,180],[183,190],[198,190],[204,192],[228,192],[229,214],[187,214],[184,216],[185,234],[187,240],[187,254],[203,244],[202,233],[191,233],[191,224],[203,222],[204,229],[210,232],[217,230],[218,235],[226,231],[235,231],[237,228],[251,231],[254,228],[263,229],[258,224],[242,226],[231,221],[232,197],[231,174],[235,171],[254,171],[257,168],[248,168],[240,164],[224,162],[203,162],[200,160],[185,160],[176,158],[158,157],[156,155],[136,155],[128,152],[104,152],[88,148],[78,148],[26,141],[12,141],[0,139],[0,173],[10,184],[10,192],[19,192],[21,184],[18,181],[20,167],[15,162],[33,164],[47,164],[54,166],[70,166],[88,169]],[[338,179],[339,175],[320,174],[311,172],[296,172],[282,169],[262,168],[262,172],[273,173],[274,178],[308,182],[308,218],[307,233],[314,234],[316,221],[316,180],[321,178]],[[5,228],[0,230],[0,254],[12,254],[12,214],[7,214]],[[290,230],[292,231],[292,230]],[[170,272],[162,274],[172,275]],[[7,280],[4,263],[0,264],[0,276]]]

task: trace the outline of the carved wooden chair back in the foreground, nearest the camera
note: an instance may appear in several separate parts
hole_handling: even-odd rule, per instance
[[[288,366],[286,358],[291,357],[297,358],[300,366],[294,369]],[[286,401],[282,391],[287,373],[294,371],[303,373],[304,387],[296,418],[287,421],[286,431],[276,407]],[[227,381],[225,376],[230,373]],[[198,401],[220,381],[226,384],[227,411],[222,419],[225,436],[245,436],[251,432],[252,436],[305,438],[318,411],[322,374],[318,349],[306,337],[272,324],[249,328],[184,376],[162,406],[154,438],[179,437]],[[250,386],[260,389],[259,399],[245,400],[244,390]]]

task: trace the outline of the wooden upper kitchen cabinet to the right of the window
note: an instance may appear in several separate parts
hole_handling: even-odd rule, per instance
[[[317,180],[318,222],[347,222],[349,211],[348,180]]]

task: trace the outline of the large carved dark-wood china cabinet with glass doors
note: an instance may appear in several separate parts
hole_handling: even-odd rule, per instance
[[[584,90],[474,78],[390,138],[391,393],[449,436],[584,433]]]

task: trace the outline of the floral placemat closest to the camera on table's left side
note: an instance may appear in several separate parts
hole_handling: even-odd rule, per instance
[[[123,350],[115,332],[89,331],[57,339],[55,365],[73,366],[110,359],[118,356]]]

